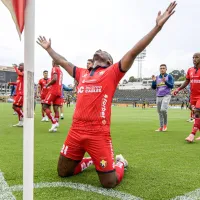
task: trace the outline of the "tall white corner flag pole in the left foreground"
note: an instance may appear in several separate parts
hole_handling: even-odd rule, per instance
[[[26,1],[24,31],[23,200],[33,200],[34,184],[35,0]]]

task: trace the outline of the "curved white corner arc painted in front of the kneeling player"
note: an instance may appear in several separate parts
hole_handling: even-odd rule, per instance
[[[105,189],[94,187],[92,185],[82,184],[82,183],[72,183],[72,182],[45,182],[45,183],[35,183],[34,188],[55,188],[55,187],[67,187],[76,190],[82,190],[84,192],[94,192],[101,194],[103,196],[115,197],[121,200],[142,200],[140,197],[133,196],[128,193],[119,192],[113,189]],[[11,191],[23,191],[22,185],[14,185],[10,187]]]

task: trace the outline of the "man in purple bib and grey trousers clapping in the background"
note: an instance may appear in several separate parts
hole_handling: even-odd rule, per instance
[[[156,131],[167,130],[167,110],[171,100],[171,89],[174,87],[172,75],[167,74],[167,66],[160,65],[160,75],[152,76],[152,89],[156,89],[156,104],[159,114],[160,128]]]

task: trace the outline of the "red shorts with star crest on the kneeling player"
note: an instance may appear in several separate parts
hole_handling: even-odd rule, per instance
[[[114,153],[110,133],[97,132],[87,134],[82,130],[69,130],[61,155],[72,160],[81,161],[87,152],[95,165],[97,172],[115,171]]]

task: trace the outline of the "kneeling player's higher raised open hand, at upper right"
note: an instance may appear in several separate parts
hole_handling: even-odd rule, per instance
[[[158,16],[156,18],[156,25],[160,28],[163,27],[163,25],[165,24],[165,22],[175,13],[175,7],[176,7],[177,3],[176,1],[170,3],[170,5],[168,6],[168,8],[166,9],[166,11],[161,14],[161,11],[158,12]]]

